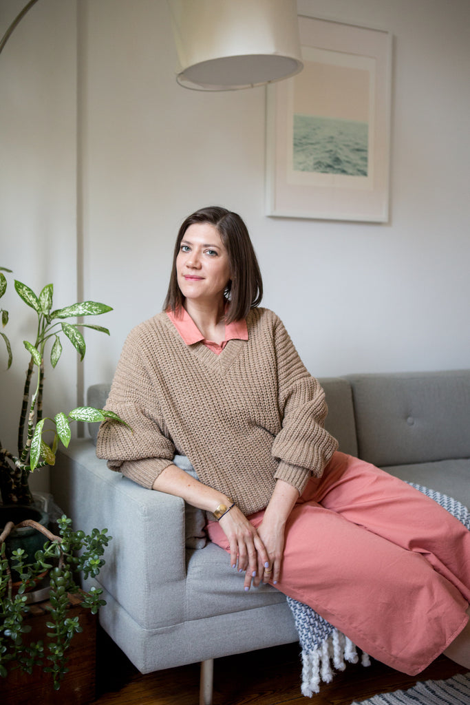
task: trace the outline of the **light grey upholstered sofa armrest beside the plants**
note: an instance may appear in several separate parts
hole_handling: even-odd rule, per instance
[[[97,582],[137,623],[157,628],[184,619],[183,499],[109,470],[90,439],[72,441],[58,453],[51,489],[75,528],[109,530],[113,540]]]

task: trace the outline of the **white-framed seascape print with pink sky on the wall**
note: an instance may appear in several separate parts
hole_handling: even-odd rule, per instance
[[[388,221],[390,32],[299,16],[304,68],[272,83],[266,214]]]

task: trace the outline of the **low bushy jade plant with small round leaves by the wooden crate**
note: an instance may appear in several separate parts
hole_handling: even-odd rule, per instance
[[[104,565],[102,558],[105,546],[112,537],[107,530],[93,529],[86,535],[74,531],[71,521],[63,515],[57,522],[59,536],[54,536],[42,525],[27,520],[21,525],[34,527],[42,532],[47,541],[34,558],[28,558],[22,548],[7,556],[4,539],[13,529],[13,522],[6,525],[0,534],[0,677],[6,678],[11,670],[20,668],[31,674],[39,666],[51,673],[54,689],[68,673],[68,648],[75,634],[82,631],[79,616],[70,616],[70,594],[79,594],[81,606],[97,614],[106,604],[101,599],[102,590],[92,586],[89,591],[78,587],[76,577],[96,577]],[[20,525],[17,525],[20,526]],[[12,572],[19,576],[20,587],[16,591]],[[47,632],[38,641],[28,641],[25,635],[31,631],[30,620],[25,619],[29,611],[27,589],[48,571],[49,615]],[[44,578],[43,578],[44,580]]]

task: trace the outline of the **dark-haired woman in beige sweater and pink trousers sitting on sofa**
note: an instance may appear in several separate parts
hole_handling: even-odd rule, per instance
[[[97,454],[210,513],[245,590],[271,582],[410,675],[443,651],[470,668],[470,532],[338,452],[323,390],[261,296],[240,216],[189,216],[163,312],[128,336],[106,405],[132,433],[104,422]]]

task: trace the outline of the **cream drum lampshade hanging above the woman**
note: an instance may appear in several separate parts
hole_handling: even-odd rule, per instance
[[[180,61],[194,90],[237,90],[302,71],[296,0],[168,0]]]

